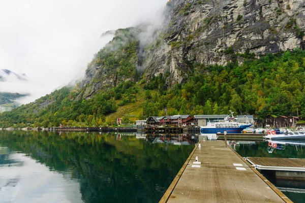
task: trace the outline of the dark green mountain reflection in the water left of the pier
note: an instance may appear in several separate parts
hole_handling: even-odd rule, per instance
[[[0,131],[0,146],[10,153],[71,174],[84,202],[158,202],[195,146],[186,134],[158,139],[164,142],[124,133]]]

